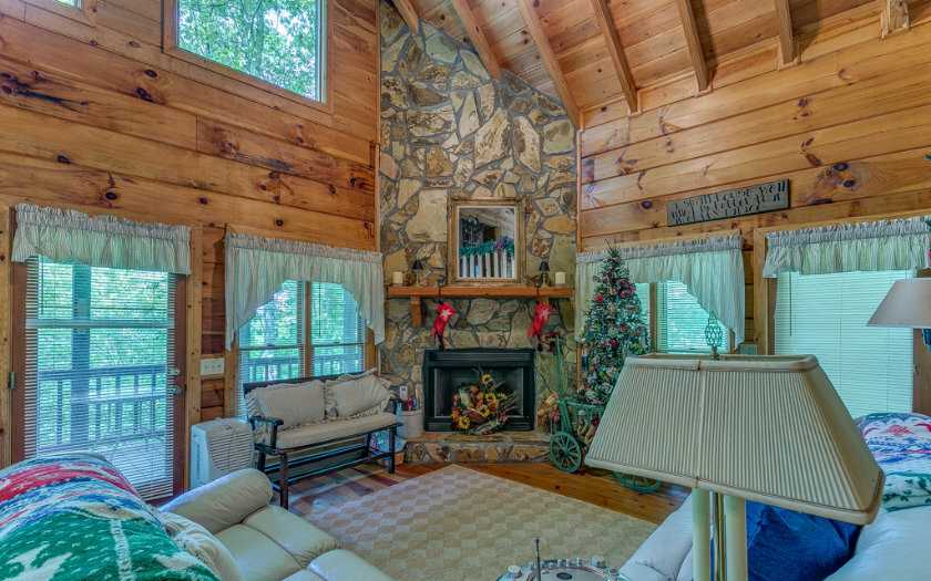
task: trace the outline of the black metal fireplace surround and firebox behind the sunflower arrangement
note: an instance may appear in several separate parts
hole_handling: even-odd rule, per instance
[[[516,396],[516,406],[504,429],[532,430],[536,405],[532,349],[450,349],[423,353],[423,427],[452,432],[452,396],[475,381],[475,370],[503,381]]]

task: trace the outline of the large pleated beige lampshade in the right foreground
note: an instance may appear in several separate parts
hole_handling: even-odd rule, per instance
[[[585,464],[857,525],[883,484],[810,355],[627,357]]]

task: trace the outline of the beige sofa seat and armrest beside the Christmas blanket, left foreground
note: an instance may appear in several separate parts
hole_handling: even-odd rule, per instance
[[[161,510],[201,525],[228,549],[235,562],[231,567],[238,571],[224,577],[244,581],[392,581],[360,557],[339,549],[326,532],[270,501],[268,478],[245,469],[182,495]]]

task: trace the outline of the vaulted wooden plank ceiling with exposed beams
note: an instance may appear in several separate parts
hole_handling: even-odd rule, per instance
[[[703,91],[719,65],[763,45],[790,63],[806,37],[883,12],[896,27],[909,3],[928,0],[395,0],[576,118],[686,75]]]

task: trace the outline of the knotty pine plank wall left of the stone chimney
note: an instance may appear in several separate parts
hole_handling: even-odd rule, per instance
[[[0,0],[0,206],[200,227],[204,356],[224,352],[227,226],[375,249],[376,0],[327,2],[326,106],[163,51],[160,0],[84,7]],[[231,378],[203,380],[201,418]]]

